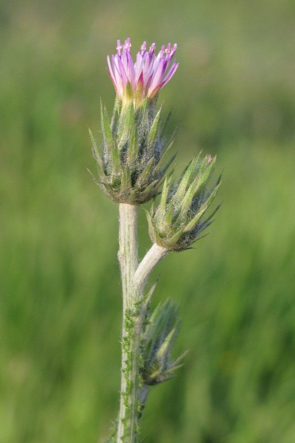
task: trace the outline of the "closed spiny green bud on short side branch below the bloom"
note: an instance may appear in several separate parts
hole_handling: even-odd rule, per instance
[[[209,224],[220,205],[203,220],[207,208],[215,198],[220,186],[221,176],[213,188],[208,187],[216,157],[199,156],[192,159],[177,185],[166,178],[158,207],[152,205],[150,213],[146,211],[149,233],[152,241],[170,251],[189,249],[207,233],[201,234]]]

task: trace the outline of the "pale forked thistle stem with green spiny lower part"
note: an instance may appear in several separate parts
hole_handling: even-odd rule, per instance
[[[138,205],[120,203],[119,263],[123,290],[122,369],[120,412],[117,443],[134,443],[138,420],[147,389],[139,374],[144,308],[141,303],[148,276],[168,252],[153,245],[138,265],[137,216]]]

